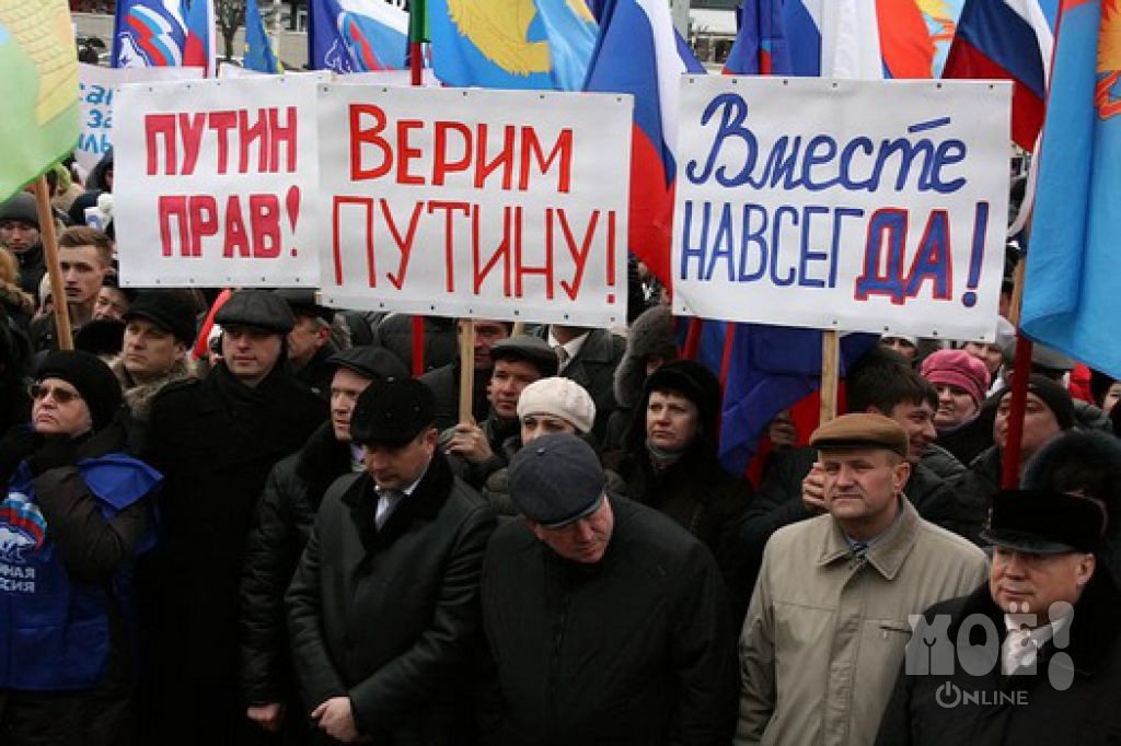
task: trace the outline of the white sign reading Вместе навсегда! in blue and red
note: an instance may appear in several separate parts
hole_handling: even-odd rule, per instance
[[[674,310],[991,341],[1011,86],[682,78]]]

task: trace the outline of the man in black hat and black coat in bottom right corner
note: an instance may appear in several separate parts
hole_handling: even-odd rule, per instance
[[[1115,744],[1121,608],[1093,500],[998,495],[988,584],[916,627],[877,744]]]

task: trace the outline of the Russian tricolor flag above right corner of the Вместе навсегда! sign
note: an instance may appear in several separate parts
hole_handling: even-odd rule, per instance
[[[1039,0],[967,0],[943,77],[1012,81],[1012,140],[1034,150],[1054,44]]]

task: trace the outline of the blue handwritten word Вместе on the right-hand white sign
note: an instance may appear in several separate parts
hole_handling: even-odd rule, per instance
[[[809,138],[781,136],[769,150],[747,124],[748,102],[736,93],[722,93],[705,106],[701,125],[713,125],[712,143],[703,162],[685,164],[693,184],[713,180],[723,187],[756,189],[806,189],[810,193],[841,188],[847,192],[904,192],[953,194],[966,181],[947,172],[969,155],[962,140],[929,137],[951,124],[948,116],[917,122],[897,138],[873,142],[860,136],[837,142],[828,133]]]

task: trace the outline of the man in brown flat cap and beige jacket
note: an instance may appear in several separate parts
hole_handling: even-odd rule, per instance
[[[984,553],[919,517],[907,433],[845,414],[810,445],[827,514],[771,537],[740,636],[735,744],[869,744],[910,637],[908,617],[986,577]]]

